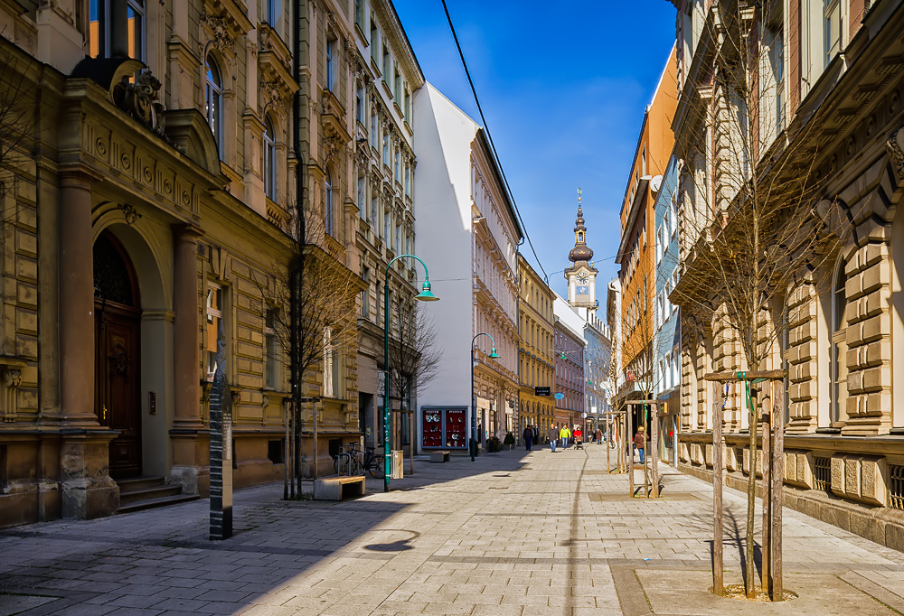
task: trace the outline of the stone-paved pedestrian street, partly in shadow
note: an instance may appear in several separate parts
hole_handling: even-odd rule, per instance
[[[904,554],[785,516],[781,605],[717,599],[711,490],[664,469],[665,498],[628,499],[605,450],[420,462],[384,494],[280,501],[237,493],[237,532],[206,538],[207,502],[0,531],[0,615],[900,614]],[[728,490],[726,581],[740,581]]]

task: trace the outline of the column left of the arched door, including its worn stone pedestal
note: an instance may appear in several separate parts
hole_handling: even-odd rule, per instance
[[[119,506],[119,488],[108,474],[115,437],[94,414],[94,241],[91,182],[83,168],[60,174],[60,404],[66,432],[61,441],[61,509],[64,518],[108,516]]]

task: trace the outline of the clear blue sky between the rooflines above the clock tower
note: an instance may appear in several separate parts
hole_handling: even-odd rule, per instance
[[[674,42],[667,0],[447,0],[477,96],[550,285],[574,246],[577,189],[600,286],[617,274],[618,210],[644,109]],[[480,116],[440,0],[395,0],[435,85]],[[526,241],[522,252],[536,267]],[[538,270],[539,271],[539,270]],[[603,300],[602,292],[598,299]]]

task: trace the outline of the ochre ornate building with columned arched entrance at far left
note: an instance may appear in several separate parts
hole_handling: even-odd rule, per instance
[[[0,526],[107,515],[137,477],[206,493],[218,340],[234,483],[280,478],[297,172],[326,253],[359,269],[351,7],[305,4],[299,82],[288,3],[102,4],[0,6],[3,88],[35,112],[3,182]],[[305,387],[325,443],[358,427],[356,354],[330,358]]]

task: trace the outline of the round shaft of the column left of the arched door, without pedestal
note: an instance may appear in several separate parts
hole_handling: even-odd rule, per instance
[[[80,170],[60,177],[60,405],[70,425],[94,414],[94,241],[91,182]]]

